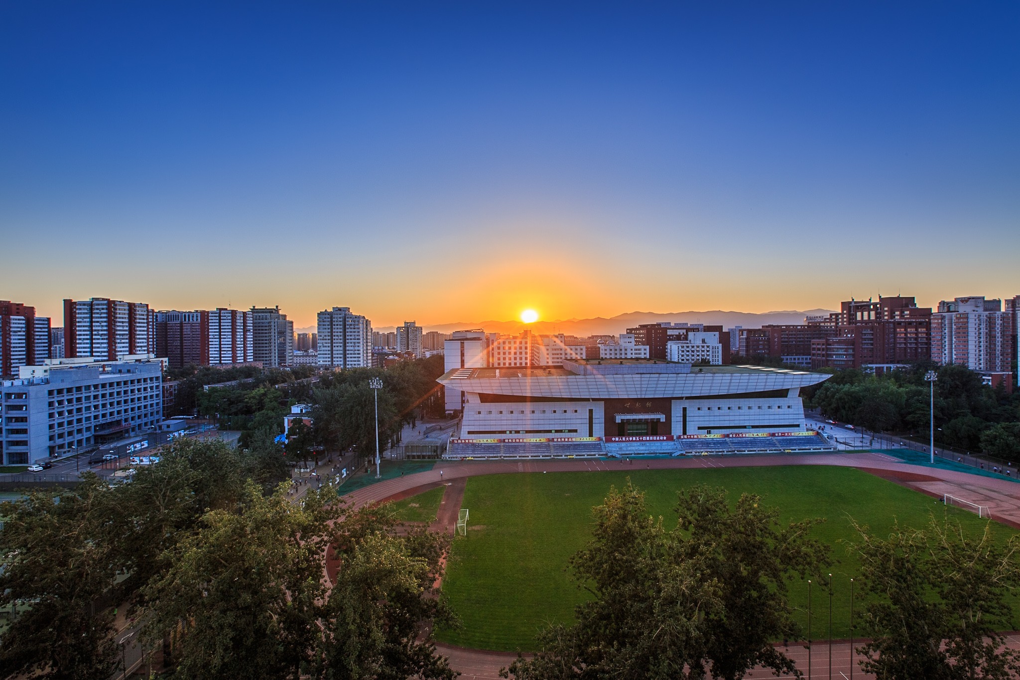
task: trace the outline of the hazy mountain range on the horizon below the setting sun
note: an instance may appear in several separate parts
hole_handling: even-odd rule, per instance
[[[537,333],[563,333],[565,335],[576,335],[586,337],[588,335],[616,335],[625,332],[627,328],[642,323],[660,323],[669,321],[673,323],[704,323],[706,325],[721,325],[724,328],[743,326],[745,328],[760,328],[770,323],[804,323],[805,316],[818,314],[828,315],[832,310],[809,309],[805,311],[782,310],[772,312],[732,312],[722,310],[711,310],[704,312],[626,312],[617,314],[609,318],[597,316],[591,319],[558,319],[555,321],[539,320],[534,323],[524,324],[522,321],[458,321],[456,323],[423,324],[425,332],[438,330],[449,333],[454,330],[468,330],[472,328],[483,328],[489,332],[517,333],[524,327],[530,328]],[[379,332],[390,332],[394,326],[380,326],[373,328]],[[315,326],[295,328],[296,332],[315,332]]]

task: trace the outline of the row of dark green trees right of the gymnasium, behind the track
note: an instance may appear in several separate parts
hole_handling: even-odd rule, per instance
[[[872,432],[927,434],[931,404],[924,375],[929,370],[937,371],[935,441],[1020,462],[1020,395],[982,384],[980,374],[965,366],[921,362],[882,375],[843,370],[807,390],[805,403]]]

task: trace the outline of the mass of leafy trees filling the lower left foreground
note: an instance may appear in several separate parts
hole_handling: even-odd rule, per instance
[[[330,486],[296,505],[266,474],[282,468],[278,446],[181,440],[129,483],[4,504],[2,675],[109,677],[104,604],[130,601],[173,677],[454,677],[427,635],[453,622],[434,590],[447,539],[347,512]]]

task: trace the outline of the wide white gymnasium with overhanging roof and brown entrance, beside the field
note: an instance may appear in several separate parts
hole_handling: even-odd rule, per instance
[[[824,373],[658,359],[454,368],[463,395],[448,457],[830,451],[805,427],[801,387]]]

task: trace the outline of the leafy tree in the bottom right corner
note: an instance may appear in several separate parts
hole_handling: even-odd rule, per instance
[[[1020,672],[1020,657],[997,632],[1011,627],[1006,596],[1020,583],[1015,537],[997,545],[986,525],[969,539],[934,517],[927,531],[897,525],[884,539],[855,527],[852,550],[870,595],[862,620],[871,641],[859,647],[865,672],[879,680],[1005,680]]]

